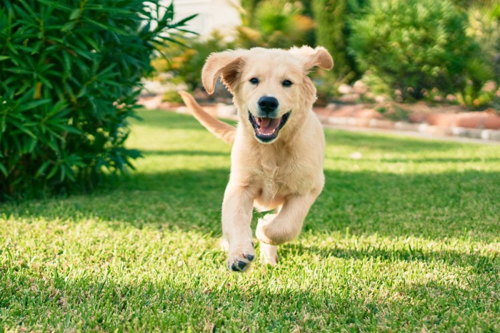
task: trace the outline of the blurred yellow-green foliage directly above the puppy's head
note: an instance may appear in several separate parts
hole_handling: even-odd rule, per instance
[[[304,45],[314,22],[304,15],[301,1],[261,0],[259,6],[249,2],[238,28],[236,43],[243,48],[264,46],[289,48]]]

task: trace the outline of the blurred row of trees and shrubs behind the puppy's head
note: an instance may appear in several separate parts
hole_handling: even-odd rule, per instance
[[[200,91],[211,52],[320,45],[335,61],[333,71],[313,74],[320,104],[335,101],[347,84],[358,88],[352,101],[500,106],[498,0],[241,0],[238,11],[241,25],[232,33],[169,47],[170,61],[153,61],[154,78]]]

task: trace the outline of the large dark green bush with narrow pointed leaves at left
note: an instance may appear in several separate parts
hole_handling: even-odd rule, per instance
[[[151,4],[151,3],[150,3]],[[0,4],[0,197],[90,188],[139,156],[126,149],[140,79],[174,23],[141,0]],[[151,26],[156,26],[154,29]]]

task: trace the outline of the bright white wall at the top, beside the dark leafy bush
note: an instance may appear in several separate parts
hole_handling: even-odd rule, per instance
[[[164,0],[170,4],[171,0]],[[175,19],[199,14],[189,22],[189,30],[196,31],[201,36],[209,36],[214,29],[224,34],[234,34],[234,27],[241,24],[236,9],[239,0],[174,0]]]

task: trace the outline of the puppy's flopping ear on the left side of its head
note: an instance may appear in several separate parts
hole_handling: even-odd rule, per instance
[[[243,50],[211,53],[201,70],[201,82],[206,92],[210,94],[214,92],[217,78],[221,76],[224,85],[231,93],[234,93],[234,87],[239,81],[241,66],[244,63],[243,56]]]

